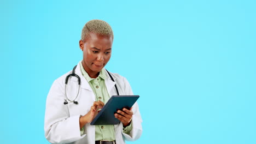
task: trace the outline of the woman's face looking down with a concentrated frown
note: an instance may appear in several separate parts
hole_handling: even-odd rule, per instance
[[[92,78],[98,76],[98,72],[108,63],[112,52],[112,36],[102,36],[90,33],[85,40],[79,41],[83,51],[83,67]]]

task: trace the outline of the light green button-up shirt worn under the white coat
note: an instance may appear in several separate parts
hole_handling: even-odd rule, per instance
[[[107,78],[106,72],[102,69],[96,79],[92,79],[88,73],[84,70],[82,62],[80,62],[80,68],[83,76],[91,86],[92,91],[95,94],[95,100],[101,100],[104,104],[109,100],[109,94],[105,85],[105,79]],[[132,129],[131,124],[126,128],[123,128],[123,132],[129,134]],[[83,129],[81,129],[84,131]],[[115,140],[114,125],[95,125],[95,141],[98,140]]]

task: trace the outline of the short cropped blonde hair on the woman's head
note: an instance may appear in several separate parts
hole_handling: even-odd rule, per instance
[[[114,37],[110,25],[106,21],[102,20],[88,21],[82,29],[81,40],[85,40],[86,38],[88,38],[89,33],[112,36],[112,38]]]

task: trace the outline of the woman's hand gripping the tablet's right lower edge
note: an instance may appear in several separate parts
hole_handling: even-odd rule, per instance
[[[124,127],[127,127],[131,123],[132,115],[133,115],[133,112],[131,109],[127,110],[124,108],[123,111],[118,110],[117,113],[114,114],[115,118],[119,119],[119,121],[123,123]]]

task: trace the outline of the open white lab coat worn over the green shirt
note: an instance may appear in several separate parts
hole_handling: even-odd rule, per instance
[[[105,69],[104,69],[105,70]],[[64,105],[65,97],[65,79],[68,74],[62,75],[59,79],[55,80],[50,88],[50,92],[46,99],[44,131],[46,139],[51,143],[88,143],[95,144],[95,126],[86,124],[84,127],[84,134],[80,134],[79,118],[89,112],[92,104],[95,101],[95,95],[89,83],[86,81],[80,70],[80,64],[77,64],[75,74],[81,79],[80,89],[78,88],[77,79],[72,76],[68,80],[67,95],[68,98],[76,99],[78,105],[69,103]],[[106,72],[107,74],[107,72]],[[113,82],[107,74],[105,84],[110,96],[117,95],[115,90],[115,83],[117,83],[120,95],[133,95],[131,86],[125,77],[118,74],[110,73],[115,82]],[[72,88],[70,88],[72,87]],[[123,133],[123,123],[114,125],[115,141],[117,144],[124,144],[125,140],[135,141],[139,139],[142,134],[142,119],[139,113],[137,102],[132,107],[132,131],[129,135]]]

